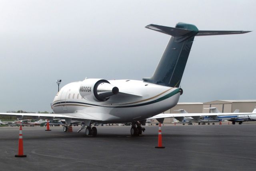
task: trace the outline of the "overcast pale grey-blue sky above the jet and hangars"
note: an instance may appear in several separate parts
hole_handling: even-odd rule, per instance
[[[1,0],[0,112],[52,112],[60,87],[151,77],[170,38],[144,28],[252,30],[195,37],[179,102],[256,99],[254,0]]]

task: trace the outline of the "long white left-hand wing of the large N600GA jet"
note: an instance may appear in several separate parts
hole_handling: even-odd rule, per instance
[[[100,120],[90,114],[78,112],[78,113],[66,113],[66,114],[37,114],[37,113],[0,113],[1,116],[17,116],[22,118],[28,116],[31,118],[49,118],[49,119],[65,119],[71,118],[74,120]]]

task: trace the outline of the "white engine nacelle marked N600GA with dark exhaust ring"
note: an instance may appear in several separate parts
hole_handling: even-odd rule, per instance
[[[118,92],[119,89],[116,86],[103,79],[86,79],[82,81],[79,88],[80,95],[89,101],[104,102]]]

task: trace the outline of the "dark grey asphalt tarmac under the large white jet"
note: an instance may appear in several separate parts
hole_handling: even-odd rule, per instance
[[[0,170],[256,170],[256,124],[162,126],[164,149],[156,149],[158,126],[131,137],[130,126],[97,126],[97,137],[63,132],[62,126],[0,127]]]

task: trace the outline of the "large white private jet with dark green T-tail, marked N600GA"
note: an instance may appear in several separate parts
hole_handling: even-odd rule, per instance
[[[66,132],[71,120],[83,121],[86,135],[96,136],[93,123],[132,123],[131,134],[144,132],[146,119],[174,107],[182,94],[180,81],[195,36],[242,34],[250,31],[199,31],[196,26],[178,23],[175,28],[150,24],[148,29],[171,35],[164,54],[151,78],[136,80],[85,79],[69,83],[56,94],[52,104],[54,114],[0,115],[34,116],[66,120]],[[78,132],[80,131],[78,130]]]

